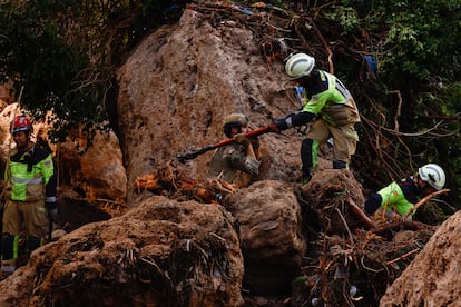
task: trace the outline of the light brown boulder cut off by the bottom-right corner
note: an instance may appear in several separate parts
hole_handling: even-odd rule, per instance
[[[460,306],[461,212],[440,226],[388,288],[380,306]]]

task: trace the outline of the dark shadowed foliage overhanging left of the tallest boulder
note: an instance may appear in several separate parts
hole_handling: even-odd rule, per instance
[[[53,140],[107,119],[122,55],[167,16],[169,1],[0,2],[0,78],[24,89],[21,106],[56,115]]]

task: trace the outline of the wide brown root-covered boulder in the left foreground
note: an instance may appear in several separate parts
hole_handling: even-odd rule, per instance
[[[37,249],[0,306],[239,306],[243,273],[222,206],[151,197]]]

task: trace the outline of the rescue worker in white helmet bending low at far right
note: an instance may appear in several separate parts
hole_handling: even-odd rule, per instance
[[[365,201],[365,212],[374,215],[375,221],[383,225],[383,217],[392,220],[394,215],[405,216],[422,197],[443,189],[444,185],[445,172],[440,166],[422,166],[415,177],[393,181],[370,195]]]

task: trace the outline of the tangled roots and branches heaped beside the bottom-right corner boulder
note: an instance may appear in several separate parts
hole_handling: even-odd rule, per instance
[[[350,238],[322,234],[311,242],[318,255],[306,258],[294,283],[293,306],[376,304],[432,235],[433,230],[404,230],[388,237],[366,230],[356,230]]]

